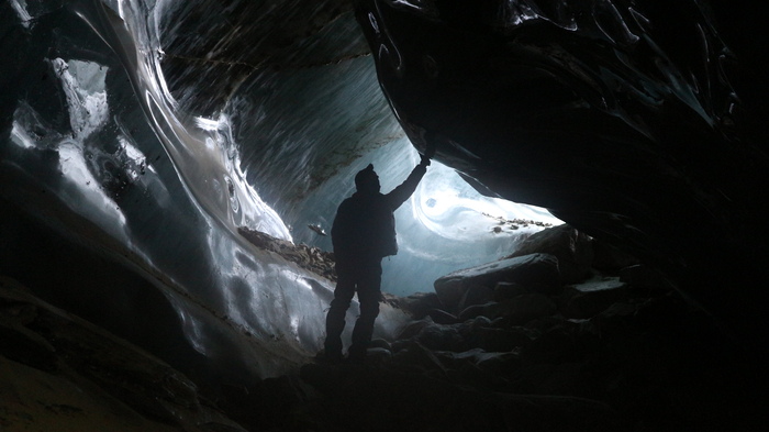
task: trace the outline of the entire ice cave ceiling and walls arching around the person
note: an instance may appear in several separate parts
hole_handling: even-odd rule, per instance
[[[357,22],[344,0],[0,3],[0,272],[171,362],[272,375],[315,352],[333,287],[237,229],[330,250],[308,225],[328,230],[354,173],[372,162],[388,190],[432,136],[392,292],[526,231],[483,213],[558,223],[453,168],[705,306],[732,300],[711,285],[733,274],[766,276],[726,264],[766,256],[766,188],[748,187],[769,165],[766,87],[745,79],[766,52],[734,25],[757,23],[750,2],[711,2],[723,33],[698,1],[355,3]]]

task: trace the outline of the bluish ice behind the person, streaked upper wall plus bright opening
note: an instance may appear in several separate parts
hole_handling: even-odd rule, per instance
[[[308,225],[331,231],[337,206],[355,190],[357,170],[374,163],[387,192],[419,162],[382,95],[371,57],[360,49],[363,34],[352,13],[343,14],[287,48],[277,67],[255,70],[223,108],[235,123],[249,182],[275,206],[297,243],[326,251],[331,239]],[[192,70],[176,75],[190,77]],[[176,92],[180,99],[193,97],[190,89]],[[484,212],[559,223],[542,209],[481,197],[453,169],[435,163],[395,212],[400,252],[383,262],[383,289],[399,295],[432,290],[436,278],[508,255],[539,229],[497,233],[498,221]]]

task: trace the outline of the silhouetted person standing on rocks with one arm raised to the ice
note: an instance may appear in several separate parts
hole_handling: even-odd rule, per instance
[[[402,185],[390,193],[379,192],[379,176],[374,165],[355,176],[357,191],[342,201],[331,229],[334,244],[337,283],[334,300],[326,315],[325,355],[330,361],[342,359],[342,331],[345,314],[355,292],[358,292],[360,315],[353,329],[348,357],[361,361],[371,342],[374,321],[379,314],[381,261],[398,253],[395,241],[395,209],[411,197],[427,170],[430,157],[411,171]]]

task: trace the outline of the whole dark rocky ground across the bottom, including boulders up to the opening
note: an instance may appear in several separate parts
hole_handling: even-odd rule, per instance
[[[565,284],[559,258],[533,251],[459,272],[436,292],[387,295],[413,321],[372,341],[366,363],[308,364],[208,398],[141,350],[3,289],[0,400],[13,402],[0,406],[0,428],[762,430],[766,397],[749,391],[766,388],[761,368],[658,272],[629,262]]]

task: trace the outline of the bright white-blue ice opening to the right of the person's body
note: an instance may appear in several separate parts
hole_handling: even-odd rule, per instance
[[[411,145],[405,153],[411,164],[399,165],[411,169],[419,154]],[[395,211],[399,253],[382,263],[382,288],[399,296],[432,291],[441,276],[500,259],[528,235],[561,223],[543,208],[486,197],[433,160],[414,195]]]

